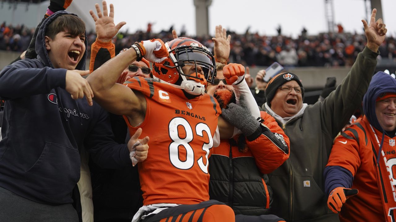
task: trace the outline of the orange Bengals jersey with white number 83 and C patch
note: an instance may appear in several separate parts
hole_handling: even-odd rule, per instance
[[[139,126],[150,137],[139,162],[143,204],[196,204],[209,200],[208,158],[221,109],[208,94],[188,100],[181,89],[142,77],[124,85],[142,92],[147,111]],[[137,128],[126,120],[131,135]]]

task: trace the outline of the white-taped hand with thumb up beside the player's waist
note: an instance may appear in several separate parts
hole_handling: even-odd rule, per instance
[[[137,162],[143,162],[147,159],[149,137],[146,136],[143,139],[139,139],[141,134],[142,128],[139,128],[128,141],[128,150],[133,166],[135,166]]]

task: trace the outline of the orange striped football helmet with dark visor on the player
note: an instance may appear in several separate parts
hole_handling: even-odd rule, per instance
[[[162,63],[153,64],[153,77],[190,94],[202,94],[207,82],[213,83],[216,77],[215,58],[211,52],[190,38],[176,38],[165,45],[169,57]],[[194,66],[195,72],[184,73],[182,67],[186,65]]]

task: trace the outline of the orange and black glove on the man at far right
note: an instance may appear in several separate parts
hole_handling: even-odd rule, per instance
[[[357,189],[348,189],[345,187],[337,187],[330,192],[329,199],[327,199],[327,207],[334,213],[341,211],[341,207],[346,199],[358,194]]]

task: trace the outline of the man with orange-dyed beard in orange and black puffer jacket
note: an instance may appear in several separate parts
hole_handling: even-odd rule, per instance
[[[209,196],[226,203],[234,210],[236,221],[283,221],[270,213],[272,189],[267,186],[268,175],[289,157],[289,139],[273,117],[261,112],[261,120],[251,116],[246,103],[255,104],[253,95],[246,94],[236,105],[232,85],[228,85],[225,72],[230,66],[217,63],[217,75],[208,84],[207,93],[217,99],[222,116],[237,128],[255,129],[263,123],[263,132],[257,138],[244,135],[221,139],[209,158]],[[244,118],[243,118],[243,117]],[[241,118],[242,117],[242,118]],[[243,119],[238,121],[238,119]],[[250,127],[251,126],[251,127]],[[260,215],[260,216],[256,216]]]

